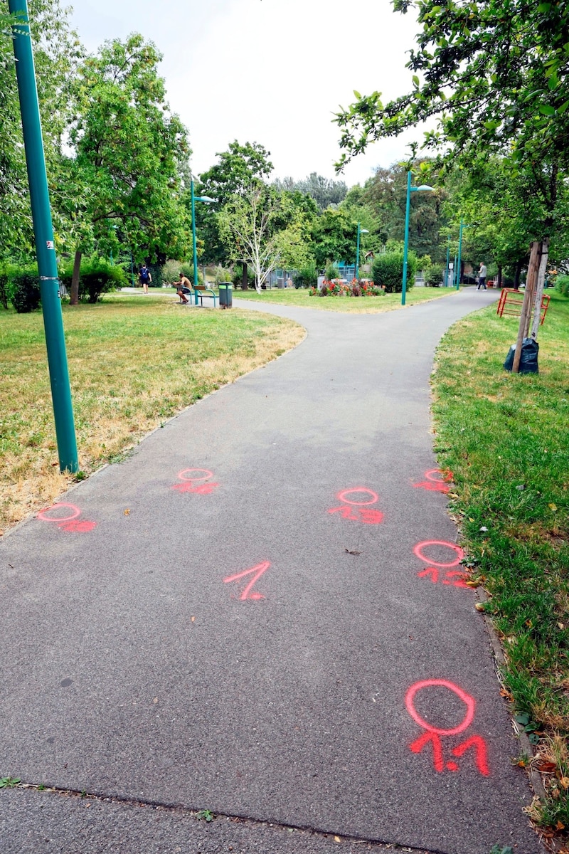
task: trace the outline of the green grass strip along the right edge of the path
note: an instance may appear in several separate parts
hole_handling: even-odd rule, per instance
[[[490,595],[505,693],[536,744],[549,798],[532,817],[554,834],[569,828],[569,300],[551,294],[538,375],[502,368],[517,325],[494,306],[444,336],[435,450],[454,475],[473,578]]]

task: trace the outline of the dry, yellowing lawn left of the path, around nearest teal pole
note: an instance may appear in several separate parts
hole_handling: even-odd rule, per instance
[[[63,322],[84,473],[305,336],[289,320],[183,307],[160,291],[64,306]],[[72,480],[59,471],[41,311],[0,309],[0,371],[2,532]]]

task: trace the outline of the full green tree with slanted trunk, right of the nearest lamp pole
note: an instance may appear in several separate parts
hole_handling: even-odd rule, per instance
[[[189,219],[178,201],[189,156],[187,131],[169,114],[160,53],[141,35],[105,43],[78,68],[75,157],[67,175],[76,192],[67,208],[76,225],[72,302],[81,254],[93,239],[107,251],[126,243],[146,259],[181,256]]]

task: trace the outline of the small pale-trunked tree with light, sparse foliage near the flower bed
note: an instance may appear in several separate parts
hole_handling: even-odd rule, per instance
[[[276,197],[264,186],[252,184],[242,196],[234,196],[219,214],[222,237],[236,260],[253,267],[260,292],[280,260],[276,233],[271,233]]]

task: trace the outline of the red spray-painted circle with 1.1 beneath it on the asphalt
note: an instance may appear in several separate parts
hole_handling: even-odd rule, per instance
[[[425,720],[424,717],[421,717],[419,712],[415,708],[415,697],[417,693],[423,691],[425,688],[432,687],[444,687],[448,688],[449,691],[455,693],[456,696],[462,700],[464,705],[466,705],[466,712],[460,722],[456,727],[452,728],[442,728],[435,727],[432,723],[429,723]],[[448,762],[444,761],[444,750],[443,750],[443,738],[450,738],[453,735],[458,735],[463,733],[473,722],[474,719],[474,709],[475,702],[474,698],[470,696],[466,691],[463,691],[461,687],[455,685],[454,682],[450,682],[447,679],[425,679],[420,682],[415,682],[415,685],[411,685],[408,692],[405,695],[405,706],[409,715],[413,718],[415,723],[418,723],[421,729],[424,729],[425,732],[419,736],[418,739],[412,742],[409,745],[409,749],[413,753],[421,753],[423,749],[427,745],[431,745],[431,749],[433,750],[433,766],[435,771],[440,774],[445,769],[448,771],[458,771],[459,765],[454,762],[454,760],[450,759]],[[462,741],[460,744],[456,745],[450,751],[452,756],[460,759],[464,753],[471,750],[473,751],[473,761],[476,765],[476,768],[479,770],[479,773],[487,777],[490,774],[488,769],[488,751],[486,749],[485,740],[481,735],[471,735],[466,740]]]

